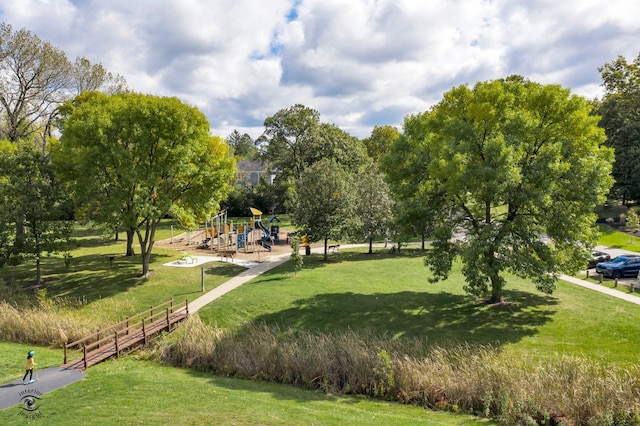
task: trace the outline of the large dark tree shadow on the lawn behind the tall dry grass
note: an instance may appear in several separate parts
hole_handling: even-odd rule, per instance
[[[366,331],[426,338],[431,344],[500,346],[535,335],[555,313],[550,296],[508,291],[513,303],[482,305],[470,296],[450,293],[320,294],[256,322],[323,332]]]

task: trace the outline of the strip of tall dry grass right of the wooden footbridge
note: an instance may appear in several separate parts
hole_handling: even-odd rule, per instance
[[[507,425],[640,424],[637,365],[609,368],[566,356],[507,360],[486,346],[430,348],[417,339],[266,325],[230,333],[197,316],[157,354],[218,375],[470,412]]]

